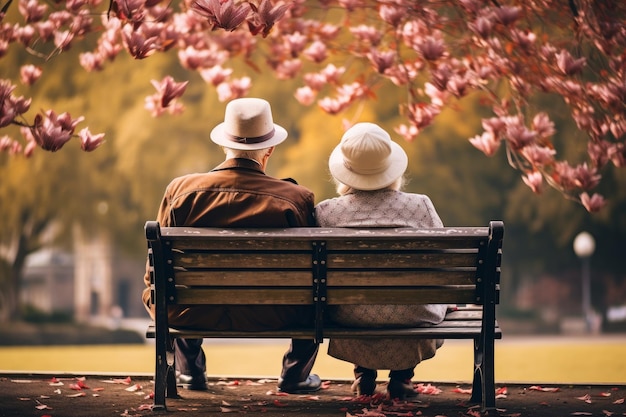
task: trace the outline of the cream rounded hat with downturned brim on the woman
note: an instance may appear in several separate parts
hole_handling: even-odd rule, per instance
[[[379,190],[393,184],[408,166],[402,147],[374,123],[357,123],[344,133],[330,155],[330,173],[357,190]]]

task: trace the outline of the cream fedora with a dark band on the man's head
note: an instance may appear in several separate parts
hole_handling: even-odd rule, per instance
[[[238,98],[229,102],[224,122],[211,131],[213,142],[231,149],[265,149],[286,138],[287,131],[274,124],[270,104],[260,98]]]

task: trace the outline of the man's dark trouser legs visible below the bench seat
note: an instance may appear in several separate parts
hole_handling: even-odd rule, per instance
[[[202,350],[202,339],[182,339],[174,341],[176,370],[191,376],[206,373],[206,356]],[[301,382],[308,378],[313,369],[319,345],[313,340],[293,339],[283,356],[280,377],[288,382]]]

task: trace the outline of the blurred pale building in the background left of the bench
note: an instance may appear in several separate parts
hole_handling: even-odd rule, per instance
[[[106,242],[74,254],[43,249],[28,256],[21,303],[43,313],[68,313],[78,322],[146,318],[141,303],[145,261],[114,254]]]

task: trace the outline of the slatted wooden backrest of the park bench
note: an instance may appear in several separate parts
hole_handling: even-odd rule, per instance
[[[223,229],[146,223],[167,304],[479,304],[499,299],[504,226]],[[321,317],[318,317],[321,319]]]

